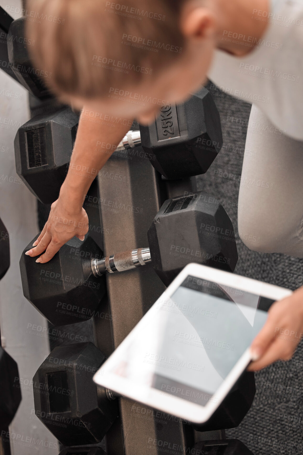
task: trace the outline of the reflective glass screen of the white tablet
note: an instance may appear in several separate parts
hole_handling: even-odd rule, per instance
[[[273,302],[188,276],[130,334],[112,372],[202,406],[216,402],[216,390],[262,329]]]

